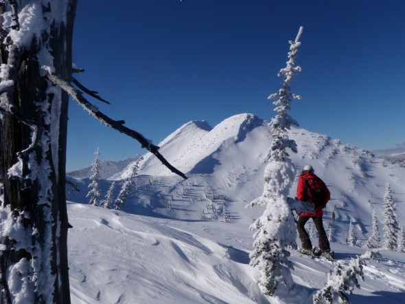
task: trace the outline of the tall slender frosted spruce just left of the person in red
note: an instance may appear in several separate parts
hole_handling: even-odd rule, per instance
[[[290,83],[292,76],[301,71],[301,67],[296,67],[294,61],[301,44],[299,38],[302,30],[301,27],[297,38],[290,41],[287,66],[278,74],[283,76],[283,87],[278,93],[268,97],[275,100],[273,104],[277,114],[269,124],[273,142],[268,151],[268,164],[264,171],[264,191],[261,197],[248,204],[266,206],[263,215],[250,227],[251,230],[256,230],[253,235],[254,249],[250,254],[250,264],[255,269],[255,282],[267,296],[286,295],[294,288],[290,272],[292,264],[288,261],[290,252],[287,247],[297,246],[297,230],[287,197],[294,182],[295,168],[286,150],[297,153],[297,144],[288,138],[288,130],[291,126],[298,127],[298,123],[287,111],[291,109],[292,99],[301,99],[290,92]]]

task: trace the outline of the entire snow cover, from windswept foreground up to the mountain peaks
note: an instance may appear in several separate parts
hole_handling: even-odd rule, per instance
[[[207,122],[185,124],[159,145],[188,180],[144,155],[137,186],[122,211],[86,205],[91,181],[69,177],[80,189],[67,186],[73,226],[69,230],[72,303],[282,303],[260,293],[248,265],[253,250],[248,226],[263,208],[245,206],[263,191],[271,140],[267,124],[252,114],[233,116],[214,128]],[[404,224],[405,168],[327,135],[292,129],[290,138],[298,145],[298,153],[291,153],[297,171],[311,164],[332,193],[324,225],[334,228],[335,263],[347,265],[367,252],[360,246],[371,235],[373,208],[382,235],[386,182],[393,191],[398,221]],[[111,180],[101,180],[102,196],[113,180],[117,195],[133,165]],[[297,179],[292,197],[296,185]],[[334,206],[336,221],[332,221]],[[222,221],[224,209],[229,223]],[[345,244],[350,221],[358,240],[355,247]],[[380,261],[365,259],[364,282],[349,295],[351,303],[405,303],[405,253],[380,253]],[[312,303],[334,263],[293,250],[291,254],[292,276],[301,290],[297,303]]]

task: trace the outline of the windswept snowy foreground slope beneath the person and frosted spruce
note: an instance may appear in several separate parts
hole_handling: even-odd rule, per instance
[[[68,204],[69,274],[72,303],[277,303],[252,281],[247,225],[130,215],[84,204]],[[336,245],[336,263],[363,248]],[[405,303],[405,254],[382,251],[365,259],[361,289],[352,304]],[[292,272],[301,298],[323,287],[334,263],[292,252]],[[295,303],[288,303],[295,304]]]

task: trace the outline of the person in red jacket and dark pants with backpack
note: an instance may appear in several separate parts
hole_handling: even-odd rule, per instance
[[[306,184],[306,185],[305,185]],[[321,206],[314,208],[314,213],[310,212],[302,212],[297,221],[297,230],[299,234],[299,239],[301,240],[302,247],[300,252],[304,254],[316,254],[316,255],[323,255],[329,257],[330,255],[330,246],[329,240],[327,239],[327,235],[325,232],[325,228],[323,228],[323,208],[325,207],[326,203],[330,199],[330,193],[327,189],[327,186],[319,177],[314,174],[314,169],[310,165],[306,165],[299,175],[298,186],[297,186],[297,199],[301,202],[310,202],[314,204],[315,198],[312,196],[314,192],[311,191],[308,184],[317,184],[319,187],[319,191],[322,192],[321,200],[323,202],[319,202]],[[306,193],[305,193],[306,188]],[[308,235],[308,232],[305,230],[305,224],[309,219],[314,221],[316,230],[318,230],[319,235],[319,244],[317,250],[312,251],[312,243],[311,239]]]

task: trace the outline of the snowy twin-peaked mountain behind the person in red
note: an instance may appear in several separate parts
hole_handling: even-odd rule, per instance
[[[344,242],[347,224],[352,221],[356,237],[365,240],[371,232],[371,213],[377,210],[382,221],[382,197],[388,181],[396,202],[405,201],[405,169],[376,158],[371,152],[351,144],[342,144],[327,135],[292,129],[290,138],[297,142],[298,153],[291,153],[297,174],[312,164],[332,193],[325,218],[330,219],[336,206],[339,221],[336,239]],[[251,224],[262,214],[259,208],[245,206],[263,191],[263,171],[270,146],[267,122],[253,114],[240,114],[211,129],[207,122],[189,122],[164,140],[161,153],[188,180],[167,172],[156,158],[145,155],[137,184],[128,200],[128,213],[187,220],[222,218],[225,208],[231,221]],[[135,162],[129,164],[131,168]],[[111,178],[117,180],[116,192],[130,170]],[[89,180],[76,180],[80,193],[67,189],[68,199],[87,202]],[[112,181],[102,181],[102,195]],[[296,180],[297,182],[297,180]],[[293,184],[290,196],[295,195]],[[397,204],[400,224],[405,206]]]

